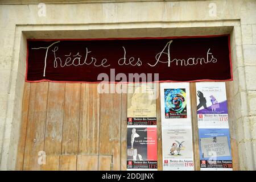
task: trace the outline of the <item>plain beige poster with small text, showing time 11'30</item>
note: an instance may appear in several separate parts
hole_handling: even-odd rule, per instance
[[[156,125],[156,84],[127,85],[127,125]]]

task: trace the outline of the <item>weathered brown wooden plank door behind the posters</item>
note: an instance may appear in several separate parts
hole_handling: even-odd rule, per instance
[[[126,170],[127,95],[99,94],[97,86],[25,82],[17,170]],[[195,92],[195,83],[191,83],[191,95]],[[196,97],[191,98],[198,170]],[[160,98],[156,109],[158,169],[162,170]],[[236,142],[232,148],[236,150]],[[233,158],[234,162],[238,159]],[[238,164],[234,164],[236,169]]]

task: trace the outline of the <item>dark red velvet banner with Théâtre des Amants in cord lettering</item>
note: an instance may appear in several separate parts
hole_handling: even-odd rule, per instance
[[[102,80],[232,80],[229,36],[27,40],[27,82]]]

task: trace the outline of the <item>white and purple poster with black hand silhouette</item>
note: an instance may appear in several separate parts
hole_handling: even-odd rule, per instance
[[[197,82],[196,101],[199,128],[229,127],[225,82]]]

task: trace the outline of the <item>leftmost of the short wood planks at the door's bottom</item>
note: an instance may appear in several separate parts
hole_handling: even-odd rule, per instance
[[[76,171],[77,155],[61,155],[60,171]]]

